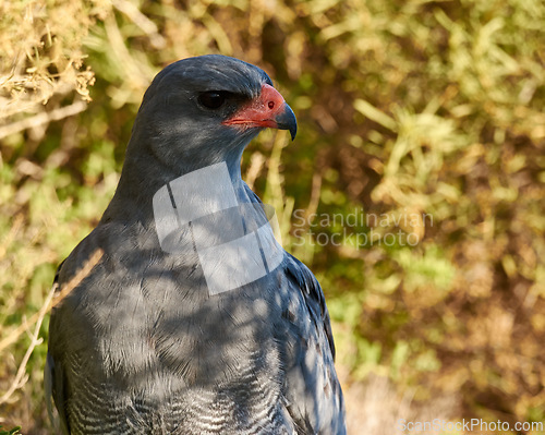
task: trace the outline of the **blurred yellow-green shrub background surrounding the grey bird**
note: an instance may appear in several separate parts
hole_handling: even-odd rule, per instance
[[[243,173],[323,285],[350,433],[545,421],[544,29],[541,0],[0,0],[0,424],[50,433],[56,267],[154,75],[211,52],[298,116]]]

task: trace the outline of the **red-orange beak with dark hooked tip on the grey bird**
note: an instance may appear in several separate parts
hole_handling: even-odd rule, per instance
[[[269,126],[289,130],[292,141],[298,132],[298,121],[293,110],[286,104],[280,93],[266,83],[262,85],[262,93],[257,98],[222,123],[225,125],[240,125],[243,129]]]

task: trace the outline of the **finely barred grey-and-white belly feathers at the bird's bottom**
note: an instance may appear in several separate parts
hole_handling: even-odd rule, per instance
[[[287,421],[278,389],[263,385],[252,370],[241,373],[235,384],[218,385],[214,390],[189,388],[168,400],[153,395],[120,400],[111,384],[82,376],[84,364],[76,360],[69,362],[80,373],[66,408],[71,434],[295,433]]]

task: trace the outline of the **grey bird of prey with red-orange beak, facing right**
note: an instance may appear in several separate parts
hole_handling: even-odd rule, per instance
[[[291,108],[208,55],[144,95],[116,194],[59,267],[45,389],[62,434],[346,434],[319,283],[270,237],[240,162]]]

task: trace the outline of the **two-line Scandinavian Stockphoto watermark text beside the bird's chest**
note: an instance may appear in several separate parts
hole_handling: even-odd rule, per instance
[[[415,246],[424,229],[433,227],[433,216],[403,208],[396,214],[365,213],[354,208],[350,213],[308,214],[293,212],[293,244],[351,245],[356,249],[384,246]]]

